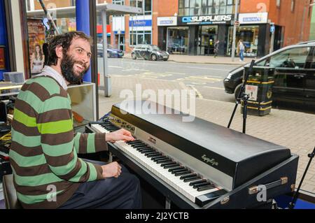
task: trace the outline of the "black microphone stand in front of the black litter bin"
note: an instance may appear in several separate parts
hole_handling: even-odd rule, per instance
[[[239,103],[241,103],[241,101],[243,101],[244,102],[244,108],[243,108],[243,133],[244,134],[246,134],[247,102],[249,99],[248,94],[245,94],[245,85],[247,83],[249,75],[253,72],[253,66],[254,65],[255,65],[255,60],[252,60],[251,66],[249,66],[248,71],[245,73],[244,82],[243,82],[243,85],[241,85],[241,90],[239,91],[239,96],[236,99],[235,108],[233,110],[232,116],[230,118],[230,122],[228,124],[228,129],[230,129],[231,124],[232,124],[232,120],[233,120],[235,113],[236,113],[236,110],[237,110],[237,106],[239,106]]]

